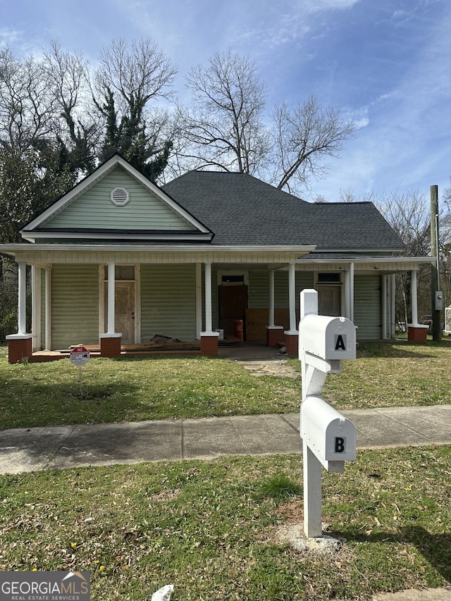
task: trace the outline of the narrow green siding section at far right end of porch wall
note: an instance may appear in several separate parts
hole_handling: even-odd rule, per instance
[[[381,276],[356,275],[354,278],[354,324],[357,338],[381,338]]]

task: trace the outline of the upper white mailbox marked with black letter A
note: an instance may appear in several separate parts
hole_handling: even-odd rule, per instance
[[[307,314],[299,323],[299,348],[321,359],[355,359],[356,330],[346,317]]]

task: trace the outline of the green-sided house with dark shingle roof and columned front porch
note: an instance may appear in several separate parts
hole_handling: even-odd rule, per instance
[[[403,256],[371,202],[311,204],[245,173],[192,171],[158,187],[118,155],[21,235],[0,245],[19,271],[11,363],[80,344],[114,357],[155,334],[216,354],[222,330],[239,337],[241,326],[245,340],[297,354],[304,288],[318,290],[321,314],[350,318],[359,339],[394,337],[395,273],[415,283],[431,261]]]

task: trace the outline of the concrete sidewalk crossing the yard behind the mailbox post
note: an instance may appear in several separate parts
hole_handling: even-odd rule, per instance
[[[342,414],[361,449],[451,444],[451,405]],[[0,473],[275,453],[302,453],[298,413],[0,431]]]

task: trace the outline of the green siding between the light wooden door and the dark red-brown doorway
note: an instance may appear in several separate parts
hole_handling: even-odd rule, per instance
[[[141,340],[153,335],[196,340],[194,265],[141,266]]]

